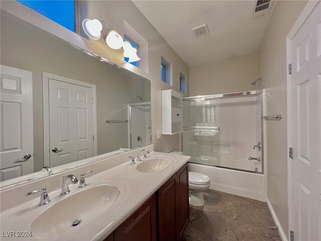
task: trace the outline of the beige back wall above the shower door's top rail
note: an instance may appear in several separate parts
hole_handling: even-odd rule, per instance
[[[257,53],[190,67],[190,96],[262,89],[257,75]]]

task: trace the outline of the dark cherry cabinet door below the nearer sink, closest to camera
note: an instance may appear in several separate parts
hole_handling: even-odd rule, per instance
[[[114,231],[114,241],[156,241],[156,194]]]

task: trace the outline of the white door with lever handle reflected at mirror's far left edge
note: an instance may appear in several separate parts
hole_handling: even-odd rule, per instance
[[[34,172],[32,72],[1,65],[1,181]]]

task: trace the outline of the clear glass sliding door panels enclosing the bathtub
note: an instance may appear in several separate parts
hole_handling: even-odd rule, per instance
[[[260,94],[183,99],[183,126],[190,162],[262,173]]]

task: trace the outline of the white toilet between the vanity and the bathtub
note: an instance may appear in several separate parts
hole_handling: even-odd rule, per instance
[[[203,192],[209,189],[210,178],[198,172],[189,172],[190,204],[193,206],[203,206]]]

